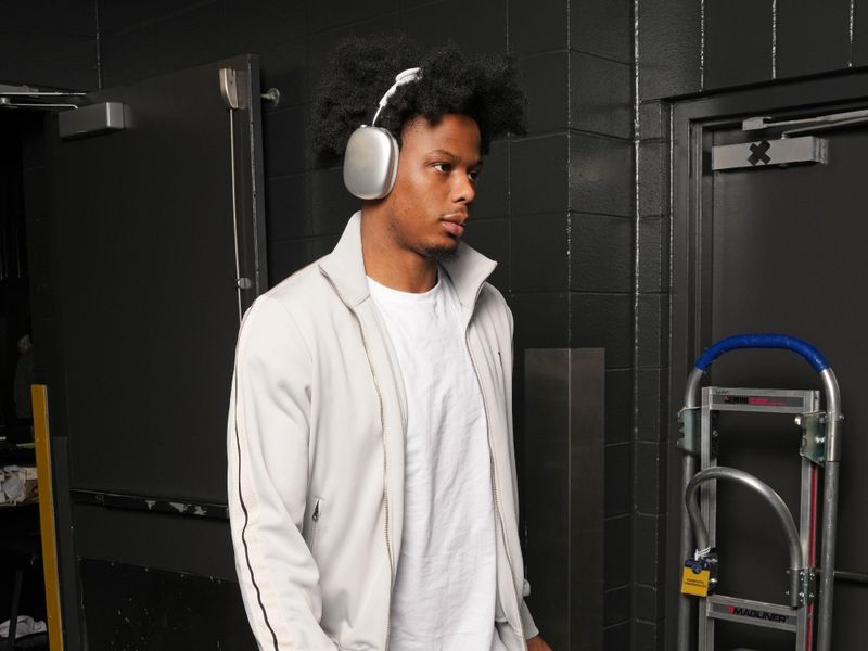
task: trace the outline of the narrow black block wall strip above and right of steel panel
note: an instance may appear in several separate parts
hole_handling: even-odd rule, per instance
[[[605,348],[603,644],[617,650],[633,638],[633,3],[573,2],[570,34],[570,346]]]

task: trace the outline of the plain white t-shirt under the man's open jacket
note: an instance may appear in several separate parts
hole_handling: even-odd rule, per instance
[[[485,411],[448,275],[423,294],[368,279],[407,394],[404,535],[391,651],[506,651]]]

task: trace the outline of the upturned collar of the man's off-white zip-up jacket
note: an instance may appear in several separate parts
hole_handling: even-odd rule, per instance
[[[495,270],[497,263],[461,242],[456,257],[443,263],[443,266],[452,280],[461,305],[472,308],[480,288]],[[349,218],[337,245],[319,261],[319,267],[349,307],[355,308],[368,298],[368,279],[361,256],[361,212]]]

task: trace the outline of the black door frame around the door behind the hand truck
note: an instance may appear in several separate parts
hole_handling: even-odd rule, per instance
[[[677,586],[680,559],[681,455],[676,447],[676,416],[693,362],[711,341],[713,183],[710,167],[712,131],[738,126],[757,115],[775,117],[847,111],[868,106],[868,69],[844,71],[792,81],[776,81],[740,90],[673,101],[669,122],[669,379],[666,411],[668,429],[668,492],[666,525],[666,648],[674,649],[678,633]]]

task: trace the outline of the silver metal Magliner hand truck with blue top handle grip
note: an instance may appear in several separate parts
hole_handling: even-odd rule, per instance
[[[702,390],[701,404],[698,404],[700,381],[707,368],[720,355],[739,348],[781,348],[801,355],[820,375],[826,395],[826,411],[820,411],[818,391],[707,386]],[[746,472],[717,465],[712,441],[712,414],[715,411],[795,414],[795,422],[802,429],[799,527],[784,501],[771,487]],[[795,634],[796,651],[810,651],[816,620],[817,651],[831,651],[838,469],[843,416],[838,380],[829,362],[810,344],[784,334],[740,334],[724,339],[697,359],[687,380],[685,406],[678,420],[682,433],[678,447],[684,451],[681,478],[685,497],[680,536],[680,558],[685,560],[685,564],[681,567],[682,593],[678,604],[678,651],[713,651],[716,620],[792,631]],[[698,472],[697,457],[700,459]],[[816,567],[819,468],[824,469],[822,549],[819,567]],[[790,554],[786,604],[741,599],[716,591],[718,558],[715,551],[715,482],[718,480],[736,482],[751,488],[771,506],[783,527]],[[697,503],[697,494],[700,492],[701,510]],[[695,537],[695,547],[692,545],[691,533]],[[817,574],[819,599],[815,609]],[[695,598],[699,601],[697,643],[691,646],[691,611]]]

